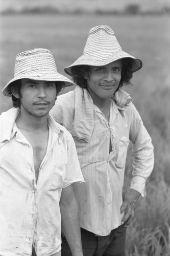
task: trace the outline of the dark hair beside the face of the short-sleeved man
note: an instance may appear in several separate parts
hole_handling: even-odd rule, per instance
[[[55,84],[56,84],[56,90],[57,90],[56,96],[57,96],[61,92],[62,88],[64,88],[65,83],[62,81],[57,81],[57,82],[55,82]],[[9,90],[11,91],[12,88],[15,88],[15,90],[17,91],[17,94],[19,96],[19,98],[16,98],[12,94],[12,104],[13,104],[14,108],[17,108],[18,106],[20,107],[20,98],[22,97],[22,95],[20,93],[21,79],[18,79],[16,81],[12,82]]]

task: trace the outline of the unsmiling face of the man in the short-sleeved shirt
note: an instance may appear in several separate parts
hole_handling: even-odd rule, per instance
[[[35,117],[44,117],[55,104],[55,82],[21,79],[20,109]]]

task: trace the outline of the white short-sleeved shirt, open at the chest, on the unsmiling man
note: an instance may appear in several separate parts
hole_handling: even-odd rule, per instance
[[[83,182],[68,131],[48,117],[48,145],[36,184],[33,148],[15,124],[19,109],[0,117],[0,255],[50,256],[61,249],[62,188]]]

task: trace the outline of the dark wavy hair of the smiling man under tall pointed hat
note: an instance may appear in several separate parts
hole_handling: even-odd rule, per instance
[[[119,88],[124,84],[130,83],[132,78],[132,61],[130,58],[122,59],[122,74],[119,82]],[[81,88],[87,89],[87,80],[84,78],[85,73],[90,74],[90,66],[75,66],[70,68],[70,73],[74,82]]]

